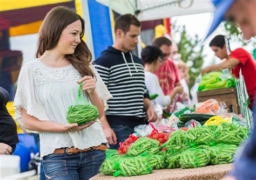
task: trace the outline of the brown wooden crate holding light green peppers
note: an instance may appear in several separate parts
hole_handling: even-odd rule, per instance
[[[215,99],[218,102],[225,102],[227,105],[228,113],[240,114],[237,89],[234,87],[197,92],[197,99],[198,102],[204,102],[208,99]]]

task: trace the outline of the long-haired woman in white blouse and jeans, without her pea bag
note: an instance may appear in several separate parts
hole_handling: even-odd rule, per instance
[[[81,95],[97,106],[99,118],[112,97],[91,65],[84,25],[75,11],[53,8],[39,30],[37,58],[19,75],[15,119],[39,132],[46,179],[89,179],[105,159],[107,140],[99,120],[82,126],[66,120],[80,82]]]

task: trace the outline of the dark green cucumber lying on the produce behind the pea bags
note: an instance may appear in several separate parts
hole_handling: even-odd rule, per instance
[[[198,122],[201,122],[201,121],[207,121],[212,116],[215,116],[215,115],[213,115],[213,114],[203,114],[203,113],[180,114],[179,115],[179,120],[181,122],[184,122],[184,123],[186,123],[189,120],[196,120]]]

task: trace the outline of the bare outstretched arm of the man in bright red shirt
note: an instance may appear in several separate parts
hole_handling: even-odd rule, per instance
[[[223,63],[217,64],[217,65],[212,65],[212,66],[207,66],[202,70],[202,74],[209,73],[212,71],[224,70],[224,69],[230,67],[230,63],[231,63],[231,67],[233,68],[233,67],[237,66],[240,63],[240,61],[238,59],[231,58],[230,61],[225,60]]]

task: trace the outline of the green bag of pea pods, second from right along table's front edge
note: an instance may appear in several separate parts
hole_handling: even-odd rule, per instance
[[[183,169],[204,167],[210,160],[211,156],[209,150],[190,148],[181,153],[180,167]]]

